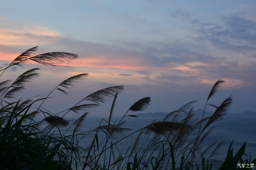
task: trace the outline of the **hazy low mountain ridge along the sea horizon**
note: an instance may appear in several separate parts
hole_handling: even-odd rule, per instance
[[[195,113],[195,116],[202,116],[203,114],[203,109],[197,109],[194,111]],[[163,116],[166,116],[168,113],[166,112],[148,112],[148,113],[138,113],[136,114],[137,116],[139,117],[163,117]],[[207,116],[211,116],[213,114],[213,112],[210,112],[210,111],[205,111],[204,112],[204,117],[207,117]],[[244,111],[244,112],[241,112],[241,113],[228,113],[226,114],[225,116],[239,116],[239,117],[256,117],[256,112],[251,112],[251,111]]]

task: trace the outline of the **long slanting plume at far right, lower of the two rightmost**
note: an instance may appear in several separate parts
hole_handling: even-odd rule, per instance
[[[230,108],[230,105],[233,103],[233,97],[232,95],[226,98],[221,105],[215,110],[214,114],[210,117],[208,122],[205,124],[202,132],[213,122],[222,119],[224,115],[227,114],[228,109]]]

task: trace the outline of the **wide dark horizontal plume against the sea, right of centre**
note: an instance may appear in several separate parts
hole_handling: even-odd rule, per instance
[[[155,123],[151,123],[150,125],[146,126],[146,129],[149,129],[153,131],[156,134],[164,135],[166,133],[172,132],[172,131],[179,131],[181,127],[183,126],[183,123],[179,122],[169,122],[169,121],[158,121]],[[187,129],[191,129],[192,127],[189,125],[185,125]]]

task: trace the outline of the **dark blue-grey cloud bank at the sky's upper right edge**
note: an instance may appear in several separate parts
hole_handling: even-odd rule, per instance
[[[232,15],[221,18],[222,25],[201,24],[195,41],[210,41],[212,45],[237,52],[256,50],[256,21]]]

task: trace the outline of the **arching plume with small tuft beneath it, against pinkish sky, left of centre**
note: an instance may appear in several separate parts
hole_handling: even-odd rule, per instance
[[[67,94],[67,91],[59,88],[59,86],[61,87],[64,87],[64,88],[67,88],[67,89],[70,89],[71,87],[74,86],[73,83],[75,83],[76,81],[78,80],[82,80],[83,78],[87,77],[89,74],[87,73],[84,73],[84,74],[78,74],[78,75],[75,75],[75,76],[72,76],[66,80],[64,80],[63,82],[61,82],[58,86],[57,86],[57,90],[60,90],[62,92],[64,92],[65,94]]]

